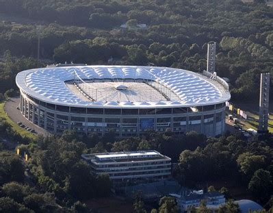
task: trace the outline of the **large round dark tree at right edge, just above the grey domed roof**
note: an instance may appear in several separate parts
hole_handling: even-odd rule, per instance
[[[270,172],[262,168],[255,171],[248,184],[248,189],[261,202],[268,201],[273,189]]]

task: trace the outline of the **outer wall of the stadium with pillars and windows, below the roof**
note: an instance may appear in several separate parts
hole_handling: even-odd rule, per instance
[[[197,131],[207,136],[224,132],[224,103],[189,108],[75,108],[30,99],[21,93],[20,109],[29,121],[56,133],[73,129],[103,136],[111,131],[117,137],[129,137],[140,136],[147,129],[174,134]]]

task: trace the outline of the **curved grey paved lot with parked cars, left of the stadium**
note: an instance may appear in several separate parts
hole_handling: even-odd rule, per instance
[[[37,134],[41,134],[43,136],[49,136],[49,132],[42,129],[41,127],[38,127],[37,125],[34,125],[34,123],[31,123],[30,121],[25,118],[20,110],[17,110],[16,108],[19,105],[20,97],[13,97],[10,98],[9,101],[5,103],[5,112],[7,112],[8,116],[14,121],[15,123],[21,122],[26,127],[29,127],[31,129],[34,129]]]

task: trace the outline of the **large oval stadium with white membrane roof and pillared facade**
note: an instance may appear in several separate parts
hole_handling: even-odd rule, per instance
[[[109,131],[141,136],[147,129],[174,134],[224,132],[223,79],[156,66],[53,66],[16,76],[25,118],[53,133]]]

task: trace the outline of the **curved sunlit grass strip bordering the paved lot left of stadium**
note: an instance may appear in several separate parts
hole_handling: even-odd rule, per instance
[[[23,129],[23,128],[19,127],[17,125],[17,123],[15,123],[14,121],[12,121],[10,119],[10,117],[8,116],[8,114],[5,113],[4,105],[5,105],[5,102],[0,102],[0,118],[4,118],[5,121],[7,121],[12,126],[12,129],[14,131],[18,132],[18,134],[20,134],[22,137],[25,136],[27,138],[36,139],[37,138],[36,135],[30,133],[26,129]]]

